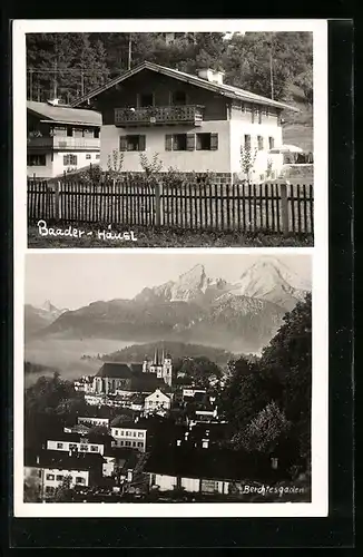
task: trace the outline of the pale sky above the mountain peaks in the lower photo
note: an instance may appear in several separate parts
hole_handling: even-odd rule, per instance
[[[311,284],[311,255],[279,252],[276,257]],[[128,253],[28,253],[24,302],[41,306],[49,300],[59,309],[73,310],[95,301],[131,299],[146,286],[177,280],[197,264],[205,266],[210,278],[237,282],[259,258],[255,251],[251,255],[167,250],[161,253],[134,250]]]

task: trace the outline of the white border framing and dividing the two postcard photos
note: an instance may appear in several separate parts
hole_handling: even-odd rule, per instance
[[[26,33],[179,31],[310,31],[314,43],[314,247],[30,250],[27,248]],[[327,204],[327,20],[14,20],[13,67],[13,516],[16,518],[226,518],[326,517],[328,512],[328,204]],[[23,304],[24,258],[31,253],[308,253],[313,268],[312,501],[304,504],[30,504],[23,502]]]

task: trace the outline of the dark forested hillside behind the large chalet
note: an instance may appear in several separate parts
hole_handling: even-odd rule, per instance
[[[192,74],[223,69],[226,84],[291,102],[297,90],[297,102],[312,102],[312,33],[192,33],[173,42],[164,35],[28,35],[28,98],[70,102],[148,60]]]

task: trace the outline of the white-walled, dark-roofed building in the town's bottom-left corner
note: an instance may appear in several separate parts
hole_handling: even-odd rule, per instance
[[[102,477],[104,462],[99,453],[26,451],[24,488],[36,491],[40,499],[47,499],[55,495],[67,477],[70,477],[70,488],[96,486]]]

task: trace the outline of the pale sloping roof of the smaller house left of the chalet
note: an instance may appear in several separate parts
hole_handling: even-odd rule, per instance
[[[72,108],[71,106],[53,106],[48,102],[38,102],[36,100],[27,100],[27,109],[46,121],[101,126],[101,115],[100,113],[96,113],[96,110]]]

